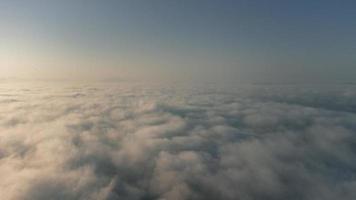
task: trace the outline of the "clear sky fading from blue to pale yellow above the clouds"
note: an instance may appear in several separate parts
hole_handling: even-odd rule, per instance
[[[0,77],[352,81],[356,3],[0,0]]]

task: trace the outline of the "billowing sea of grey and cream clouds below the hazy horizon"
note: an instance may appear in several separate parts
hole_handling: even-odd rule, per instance
[[[356,86],[4,81],[0,199],[356,199]]]

